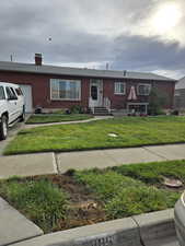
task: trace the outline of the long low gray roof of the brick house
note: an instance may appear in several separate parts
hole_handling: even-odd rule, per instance
[[[90,78],[114,78],[114,79],[141,79],[141,80],[160,80],[160,81],[175,81],[173,79],[158,75],[149,72],[130,72],[114,71],[114,70],[97,70],[97,69],[81,69],[68,68],[57,66],[35,66],[33,63],[18,63],[9,61],[0,61],[0,71],[14,71],[14,72],[31,72],[44,74],[58,74],[58,75],[77,75]]]

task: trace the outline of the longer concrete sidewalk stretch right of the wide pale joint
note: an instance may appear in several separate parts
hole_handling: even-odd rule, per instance
[[[105,168],[123,164],[185,160],[185,144],[81,151],[56,154],[60,173],[69,168]]]

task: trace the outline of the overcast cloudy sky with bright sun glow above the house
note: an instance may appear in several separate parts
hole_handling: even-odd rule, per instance
[[[184,0],[5,0],[0,60],[185,75]]]

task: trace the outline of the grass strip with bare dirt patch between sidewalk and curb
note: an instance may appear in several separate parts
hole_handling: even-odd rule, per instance
[[[165,178],[182,186],[170,188]],[[0,196],[45,233],[173,208],[185,186],[185,161],[69,171],[0,181]]]

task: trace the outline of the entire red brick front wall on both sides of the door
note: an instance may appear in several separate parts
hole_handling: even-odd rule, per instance
[[[61,77],[61,75],[51,75],[51,74],[38,74],[38,73],[21,73],[21,72],[0,72],[0,81],[18,83],[18,84],[30,84],[32,85],[32,95],[33,95],[33,106],[37,105],[44,108],[69,108],[72,105],[81,105],[83,107],[89,106],[89,96],[90,96],[90,79],[80,79],[81,80],[81,101],[50,101],[50,79],[80,79],[74,77]],[[126,82],[126,95],[115,95],[114,94],[114,82],[123,81]],[[165,108],[173,107],[173,97],[174,97],[174,82],[169,81],[142,81],[142,80],[114,80],[114,79],[104,79],[104,90],[103,95],[109,97],[112,101],[112,108],[126,108],[128,103],[128,94],[130,86],[135,85],[137,87],[138,83],[150,83],[152,86],[158,87],[161,92],[166,93],[169,97],[169,103],[165,105]],[[137,102],[148,102],[148,96],[138,96]]]

